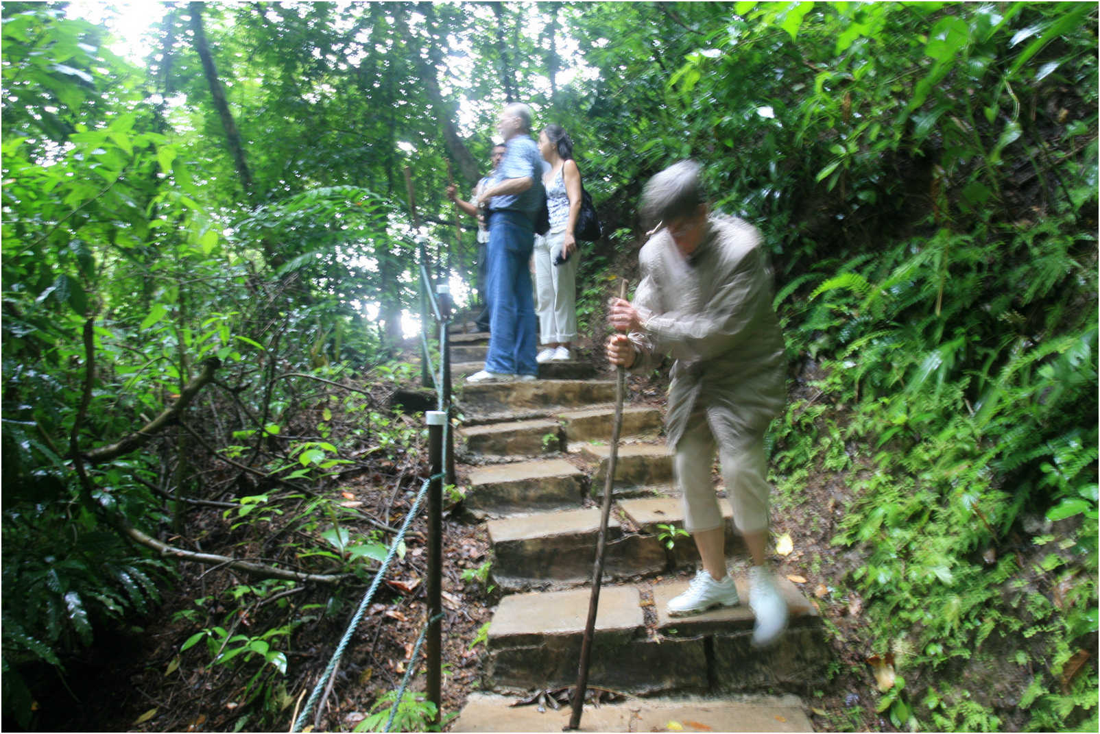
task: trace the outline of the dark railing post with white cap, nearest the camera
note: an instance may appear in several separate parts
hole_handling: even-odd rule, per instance
[[[428,459],[432,479],[428,486],[428,644],[427,665],[428,700],[436,704],[436,718],[441,720],[443,702],[440,601],[443,574],[443,485],[439,474],[443,470],[443,427],[447,424],[444,411],[430,410],[425,413],[428,421]]]

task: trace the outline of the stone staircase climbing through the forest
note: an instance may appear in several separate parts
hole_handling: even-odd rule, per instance
[[[485,522],[493,578],[506,596],[488,630],[488,692],[471,697],[451,729],[561,731],[568,707],[542,714],[510,704],[519,692],[576,681],[615,381],[569,362],[541,365],[535,382],[463,385],[460,376],[482,368],[486,340],[453,342],[465,507]],[[697,555],[690,538],[678,537],[671,549],[663,542],[669,525],[682,527],[683,513],[660,429],[658,409],[625,405],[588,685],[630,698],[598,715],[586,708],[582,729],[668,731],[686,719],[698,726],[683,731],[810,731],[790,693],[822,678],[827,645],[813,603],[794,585],[781,580],[791,625],[766,650],[749,644],[747,605],[674,620],[664,611],[686,588]],[[743,558],[722,504],[727,556]],[[744,569],[735,575],[743,600]],[[668,727],[653,723],[666,714]]]

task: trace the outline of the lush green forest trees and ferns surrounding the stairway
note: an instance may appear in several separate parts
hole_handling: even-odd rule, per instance
[[[180,571],[147,541],[185,543],[196,501],[324,488],[382,441],[374,408],[366,437],[296,438],[327,388],[284,378],[404,374],[418,243],[472,279],[443,192],[519,100],[604,222],[595,343],[649,176],[697,159],[761,231],[792,379],[821,376],[772,478],[851,489],[837,583],[905,666],[879,715],[1096,731],[1093,3],[169,2],[139,60],[68,3],[4,2],[2,34],[6,720],[156,614]],[[989,659],[1022,689],[980,693]]]

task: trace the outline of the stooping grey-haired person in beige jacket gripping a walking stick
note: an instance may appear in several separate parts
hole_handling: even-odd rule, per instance
[[[669,602],[672,615],[739,603],[727,574],[725,527],[711,480],[715,452],[734,521],[752,559],[752,641],[773,642],[787,626],[787,603],[766,565],[768,464],[763,436],[784,403],[783,334],[771,304],[771,278],[759,233],[711,213],[701,169],[681,162],[642,192],[652,236],[641,248],[634,302],[614,299],[607,358],[632,370],[675,358],[666,429],[674,451],[684,526],[702,559],[689,589]]]

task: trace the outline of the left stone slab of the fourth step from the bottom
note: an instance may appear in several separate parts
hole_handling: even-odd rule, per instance
[[[465,505],[486,513],[572,509],[583,492],[584,472],[564,459],[498,464],[470,472]]]

